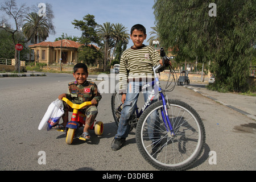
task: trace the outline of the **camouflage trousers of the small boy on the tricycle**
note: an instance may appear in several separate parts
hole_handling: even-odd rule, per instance
[[[67,117],[68,118],[68,112],[73,112],[73,109],[71,108],[71,106],[69,106],[66,102],[63,102],[64,105],[64,114],[63,117]],[[89,126],[91,126],[98,114],[98,109],[96,106],[87,106],[84,109],[79,109],[79,111],[86,115],[86,119],[85,119],[85,123]]]

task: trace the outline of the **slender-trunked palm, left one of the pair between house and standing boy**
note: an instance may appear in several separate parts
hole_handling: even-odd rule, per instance
[[[113,37],[113,24],[110,22],[103,23],[103,26],[100,24],[99,28],[97,29],[97,34],[105,42],[104,71],[106,71],[106,59],[108,57],[109,40]]]

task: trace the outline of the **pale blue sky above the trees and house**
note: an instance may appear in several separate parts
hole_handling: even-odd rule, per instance
[[[0,0],[0,4],[6,0]],[[81,36],[81,31],[74,28],[74,19],[82,20],[83,16],[90,14],[95,16],[98,24],[106,22],[122,23],[130,34],[130,29],[134,24],[143,24],[146,27],[147,39],[150,38],[150,27],[155,26],[155,16],[152,6],[154,0],[16,0],[18,5],[25,3],[27,6],[38,6],[39,3],[50,3],[55,18],[55,35],[49,35],[46,41],[54,42],[62,33],[72,36]],[[47,8],[47,7],[46,7]],[[2,14],[2,13],[1,13]],[[9,24],[14,24],[9,22]],[[144,44],[148,44],[147,39]],[[133,46],[131,40],[127,47]]]

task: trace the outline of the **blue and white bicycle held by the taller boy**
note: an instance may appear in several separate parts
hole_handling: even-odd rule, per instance
[[[163,60],[169,60],[163,48],[160,49]],[[176,85],[174,69],[170,75]],[[204,124],[197,112],[185,102],[170,100],[163,90],[158,78],[158,72],[163,71],[162,65],[153,68],[155,79],[142,86],[153,86],[152,92],[141,111],[137,108],[129,121],[131,130],[136,128],[136,142],[143,158],[153,167],[160,170],[183,170],[190,167],[201,155],[205,144]],[[171,76],[169,77],[170,80]],[[172,82],[171,81],[171,82]],[[155,93],[155,90],[158,93]],[[152,102],[152,97],[158,95],[158,101]],[[118,92],[112,95],[112,113],[117,125],[121,116],[122,102]],[[154,141],[152,142],[152,136]]]

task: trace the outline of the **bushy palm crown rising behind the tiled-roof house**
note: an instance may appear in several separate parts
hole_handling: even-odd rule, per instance
[[[27,23],[23,26],[23,34],[27,39],[31,39],[35,44],[44,41],[49,36],[49,26],[44,16],[38,16],[37,13],[30,13],[26,16]]]

